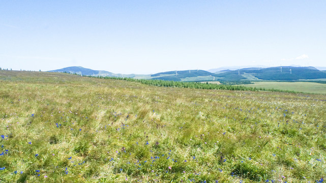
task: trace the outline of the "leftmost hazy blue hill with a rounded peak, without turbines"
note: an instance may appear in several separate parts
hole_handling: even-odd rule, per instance
[[[52,70],[48,72],[66,72],[70,74],[78,74],[78,75],[86,75],[86,76],[107,76],[111,75],[113,73],[108,72],[108,71],[101,71],[101,70],[92,70],[92,69],[87,69],[83,68],[80,66],[73,66],[73,67],[66,67],[63,69],[57,69],[57,70]]]

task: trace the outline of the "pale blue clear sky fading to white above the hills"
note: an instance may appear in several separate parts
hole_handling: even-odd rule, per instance
[[[0,0],[0,67],[326,67],[326,1]]]

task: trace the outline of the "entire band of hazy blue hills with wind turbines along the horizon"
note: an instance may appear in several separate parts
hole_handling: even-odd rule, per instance
[[[324,69],[324,68],[322,68]],[[103,70],[92,70],[83,67],[67,67],[48,72],[66,72],[71,74],[103,77],[129,77],[135,79],[161,79],[170,81],[240,81],[240,80],[326,80],[326,71],[315,67],[279,66],[263,68],[224,67],[204,70],[167,71],[151,75],[115,74]]]

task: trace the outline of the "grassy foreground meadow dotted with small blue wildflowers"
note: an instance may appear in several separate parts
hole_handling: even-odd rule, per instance
[[[0,182],[322,182],[325,95],[0,71]]]

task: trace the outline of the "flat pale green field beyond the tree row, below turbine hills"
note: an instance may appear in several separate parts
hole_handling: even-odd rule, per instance
[[[314,82],[275,82],[258,81],[254,84],[246,84],[248,87],[261,87],[267,89],[293,90],[295,92],[305,92],[312,94],[326,94],[326,84]]]

